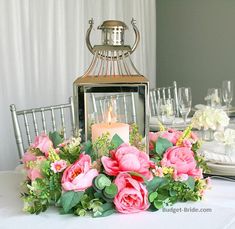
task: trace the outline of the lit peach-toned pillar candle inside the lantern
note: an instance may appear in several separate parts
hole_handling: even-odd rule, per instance
[[[97,123],[91,126],[92,142],[102,134],[109,133],[110,139],[117,134],[125,143],[129,143],[129,125],[126,123]]]

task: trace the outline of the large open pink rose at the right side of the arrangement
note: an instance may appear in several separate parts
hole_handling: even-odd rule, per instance
[[[197,168],[194,152],[188,147],[174,146],[167,149],[161,161],[163,167],[175,169],[174,178],[185,180],[187,176],[202,178],[202,170]]]

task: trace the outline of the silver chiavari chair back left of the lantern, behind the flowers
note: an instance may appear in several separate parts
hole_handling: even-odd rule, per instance
[[[42,132],[48,134],[50,131],[59,131],[65,139],[67,134],[69,137],[76,134],[72,97],[65,104],[26,110],[17,110],[16,106],[11,104],[10,111],[19,158],[22,158],[34,137]]]

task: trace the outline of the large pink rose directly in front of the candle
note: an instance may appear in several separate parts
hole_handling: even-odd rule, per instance
[[[147,179],[152,178],[149,156],[134,146],[122,144],[111,153],[111,158],[103,156],[101,162],[110,176],[117,176],[120,172],[137,172]]]

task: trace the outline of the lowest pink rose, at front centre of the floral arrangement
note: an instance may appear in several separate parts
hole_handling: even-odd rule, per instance
[[[114,183],[118,187],[118,193],[114,198],[118,212],[135,213],[148,209],[148,192],[143,184],[127,173],[120,173]]]

